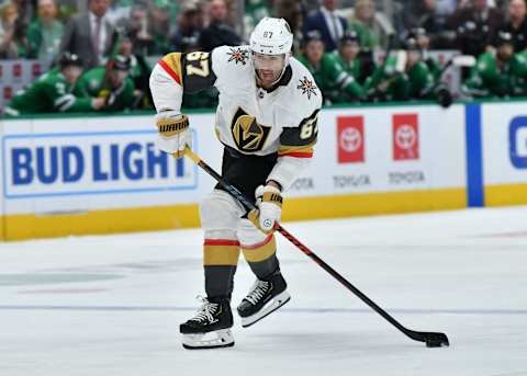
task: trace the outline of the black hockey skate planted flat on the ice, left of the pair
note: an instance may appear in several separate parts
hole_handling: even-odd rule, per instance
[[[184,349],[234,346],[231,333],[233,314],[227,298],[201,298],[202,306],[193,318],[179,326]]]

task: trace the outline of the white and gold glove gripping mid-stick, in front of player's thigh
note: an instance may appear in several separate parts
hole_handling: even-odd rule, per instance
[[[261,231],[269,233],[274,230],[276,223],[282,215],[282,195],[273,185],[260,185],[256,189],[256,206],[259,210],[253,210],[248,217]]]

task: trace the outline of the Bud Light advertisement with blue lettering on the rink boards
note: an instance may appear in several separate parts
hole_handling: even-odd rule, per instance
[[[2,139],[8,198],[197,187],[197,168],[155,146],[156,132],[13,135]]]

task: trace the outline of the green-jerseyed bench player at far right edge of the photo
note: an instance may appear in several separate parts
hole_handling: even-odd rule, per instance
[[[514,54],[513,35],[498,32],[496,53],[485,53],[478,58],[461,90],[473,98],[525,95],[526,67],[525,53]]]

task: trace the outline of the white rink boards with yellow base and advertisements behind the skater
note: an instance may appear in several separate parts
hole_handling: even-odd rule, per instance
[[[511,113],[519,109],[516,104]],[[481,124],[461,104],[323,110],[315,158],[289,190],[283,219],[466,207],[467,186],[476,181],[468,163],[468,124],[479,125],[483,139],[501,143],[486,136],[485,116],[496,110],[479,111]],[[190,118],[193,149],[218,170],[214,114]],[[2,238],[199,226],[199,202],[214,182],[190,160],[159,152],[153,123],[152,114],[1,121]],[[522,203],[522,179],[491,182],[484,191],[487,205]],[[504,190],[517,193],[503,201]]]

